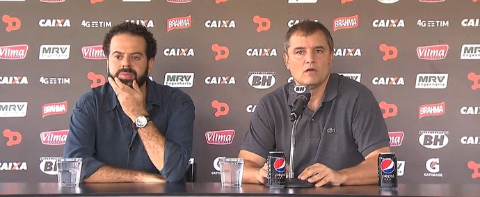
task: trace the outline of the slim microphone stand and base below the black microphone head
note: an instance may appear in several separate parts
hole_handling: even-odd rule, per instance
[[[314,184],[306,181],[300,180],[295,178],[294,174],[294,150],[295,150],[295,135],[296,135],[296,127],[298,125],[298,121],[302,118],[302,116],[296,117],[294,121],[294,126],[291,127],[291,141],[290,141],[290,165],[289,165],[289,173],[288,178],[285,180],[285,187],[287,188],[305,188],[305,187],[314,187]]]

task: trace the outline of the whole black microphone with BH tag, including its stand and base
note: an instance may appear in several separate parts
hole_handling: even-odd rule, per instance
[[[296,127],[298,125],[298,121],[302,118],[303,111],[305,110],[305,107],[307,107],[311,96],[310,86],[290,86],[290,97],[296,97],[296,100],[294,102],[294,106],[291,107],[290,113],[290,121],[294,122],[294,125],[291,127],[289,178],[285,180],[285,187],[287,188],[314,187],[314,184],[310,182],[295,178],[294,174]]]

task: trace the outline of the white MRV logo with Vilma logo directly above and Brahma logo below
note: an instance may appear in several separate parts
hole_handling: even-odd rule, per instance
[[[448,74],[419,73],[415,88],[417,89],[445,89],[447,88]]]

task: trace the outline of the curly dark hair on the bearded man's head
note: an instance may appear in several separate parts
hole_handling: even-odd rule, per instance
[[[147,42],[147,48],[145,49],[145,52],[147,53],[147,60],[150,60],[150,58],[155,58],[157,55],[157,40],[153,38],[153,34],[148,31],[145,26],[141,24],[135,24],[133,22],[122,22],[113,26],[109,33],[105,34],[103,49],[107,58],[109,58],[110,43],[113,36],[116,36],[120,33],[127,33],[133,36],[141,36],[145,38],[145,42]]]

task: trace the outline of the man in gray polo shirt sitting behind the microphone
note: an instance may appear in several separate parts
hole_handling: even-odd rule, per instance
[[[310,85],[312,97],[296,132],[297,178],[315,187],[376,183],[378,153],[390,152],[387,126],[367,87],[330,74],[333,39],[328,29],[313,21],[291,26],[283,58],[294,82],[257,104],[239,152],[245,158],[243,182],[266,183],[269,151],[284,151],[289,161],[289,114],[295,100],[289,99],[289,86],[301,84]]]

